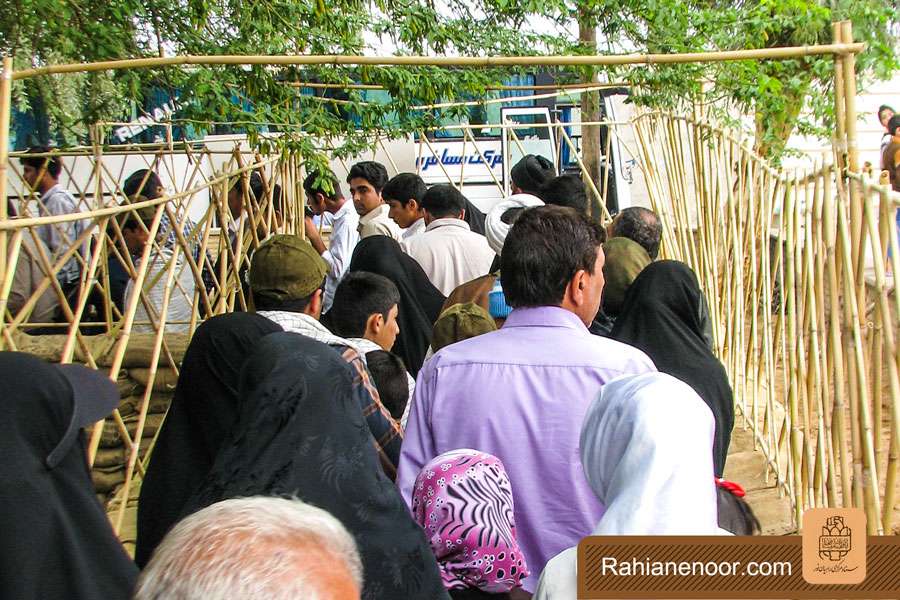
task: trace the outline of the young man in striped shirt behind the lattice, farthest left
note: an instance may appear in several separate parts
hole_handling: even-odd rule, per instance
[[[29,154],[48,152],[50,149],[45,146],[36,146],[28,150]],[[62,159],[59,156],[23,156],[19,160],[22,163],[22,179],[31,190],[41,195],[38,200],[39,216],[81,212],[72,194],[59,184],[59,175],[62,172]],[[38,237],[50,250],[51,262],[56,262],[60,255],[65,254],[87,226],[87,221],[79,220],[38,227]],[[83,248],[56,272],[56,279],[71,305],[74,305],[76,300],[81,278],[81,263],[77,254],[83,255]]]

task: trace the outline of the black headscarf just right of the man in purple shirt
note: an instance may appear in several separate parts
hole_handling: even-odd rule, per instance
[[[703,292],[689,266],[651,263],[628,288],[611,337],[643,350],[656,368],[681,379],[703,398],[716,419],[713,462],[721,477],[734,427],[728,375],[703,338]]]

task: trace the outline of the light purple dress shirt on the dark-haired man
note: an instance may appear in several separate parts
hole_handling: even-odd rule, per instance
[[[646,354],[592,335],[555,306],[514,310],[499,331],[452,344],[419,372],[397,484],[407,504],[435,456],[473,448],[506,465],[516,537],[532,591],[553,556],[590,535],[604,507],[585,479],[578,440],[607,381],[655,371]]]

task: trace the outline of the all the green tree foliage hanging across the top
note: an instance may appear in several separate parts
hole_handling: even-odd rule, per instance
[[[0,0],[0,49],[16,68],[136,56],[206,54],[374,54],[385,42],[398,54],[515,55],[585,53],[575,23],[596,25],[601,51],[695,52],[828,43],[831,23],[850,19],[867,50],[863,82],[890,75],[898,14],[892,0]],[[756,145],[778,157],[790,133],[827,135],[832,127],[833,67],[828,57],[783,61],[654,65],[605,69],[634,86],[651,107],[695,102],[756,116]],[[558,69],[585,80],[590,69]],[[126,101],[162,87],[180,99],[179,117],[199,128],[242,123],[254,135],[266,123],[284,131],[342,140],[340,154],[371,135],[403,135],[438,123],[421,105],[480,98],[510,74],[504,69],[430,67],[204,67],[48,76],[20,82],[20,107],[41,104],[63,141],[86,126],[122,118]],[[298,94],[291,82],[384,86],[390,104],[365,102],[359,90]],[[454,112],[459,109],[447,109]],[[348,115],[357,115],[364,134]],[[285,140],[313,153],[310,137]]]

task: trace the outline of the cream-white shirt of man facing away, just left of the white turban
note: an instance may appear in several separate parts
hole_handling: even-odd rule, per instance
[[[401,246],[445,296],[457,286],[486,275],[496,256],[483,235],[471,231],[462,219],[452,217],[435,219],[425,233]]]

